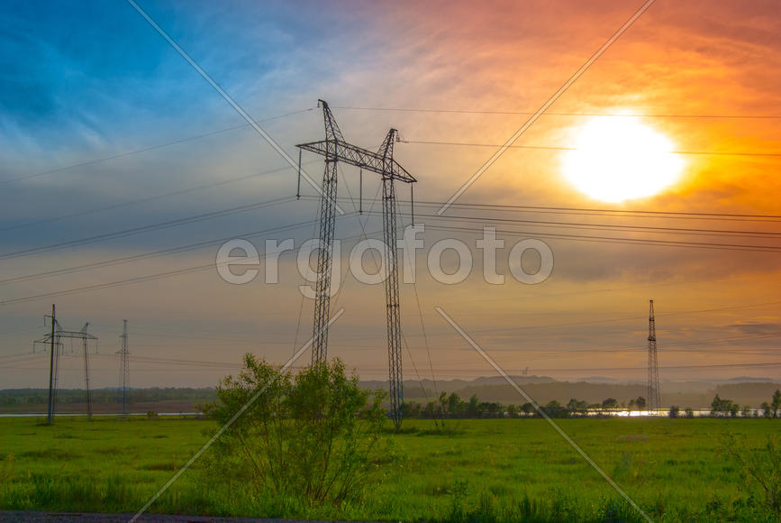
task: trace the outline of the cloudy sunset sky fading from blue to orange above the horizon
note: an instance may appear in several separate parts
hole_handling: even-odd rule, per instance
[[[781,380],[774,2],[658,0],[435,215],[634,4],[138,2],[294,161],[295,144],[323,138],[319,98],[361,147],[399,130],[395,159],[418,180],[415,223],[427,228],[419,279],[401,289],[405,378],[494,373],[441,307],[508,373],[642,381],[654,299],[663,381]],[[296,252],[280,257],[273,284],[262,271],[226,283],[214,261],[231,238],[262,253],[267,239],[297,247],[315,237],[315,190],[304,183],[295,199],[295,169],[132,5],[0,9],[0,389],[48,384],[48,353],[32,353],[32,342],[52,303],[62,326],[89,322],[100,338],[97,386],[117,384],[123,319],[132,386],[213,386],[247,352],[285,362],[312,332]],[[676,181],[622,202],[579,191],[565,173],[568,149],[589,124],[628,115],[671,144]],[[621,158],[622,179],[664,174],[635,158],[635,144],[622,154],[621,136],[597,138],[608,150],[598,161]],[[303,162],[322,178],[321,157],[304,153]],[[359,172],[340,166],[342,271],[361,234],[382,237],[378,188],[364,172],[367,212],[355,216]],[[412,216],[409,189],[397,190],[401,231]],[[503,285],[482,276],[484,226],[505,241]],[[431,247],[447,238],[467,243],[475,260],[454,285],[427,271]],[[544,242],[554,259],[538,284],[510,275],[508,252],[524,239]],[[454,270],[452,250],[442,260]],[[96,266],[104,261],[117,262]],[[539,259],[522,263],[533,271]],[[369,254],[364,264],[373,271]],[[383,286],[341,280],[332,301],[345,314],[329,355],[383,379]],[[62,386],[83,382],[76,356],[67,344]]]

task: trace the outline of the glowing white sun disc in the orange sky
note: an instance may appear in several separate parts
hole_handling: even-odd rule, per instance
[[[631,116],[595,118],[577,131],[562,171],[588,197],[619,203],[650,197],[677,182],[684,161],[673,142]]]

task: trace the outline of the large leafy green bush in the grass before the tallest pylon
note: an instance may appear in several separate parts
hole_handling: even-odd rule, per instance
[[[246,411],[213,445],[209,481],[310,505],[339,505],[365,489],[379,456],[385,392],[360,389],[339,360],[294,375],[248,353],[241,373],[216,391],[205,412],[221,426]]]

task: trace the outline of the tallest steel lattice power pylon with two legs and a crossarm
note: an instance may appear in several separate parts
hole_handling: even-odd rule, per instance
[[[414,183],[417,180],[393,158],[398,131],[388,131],[378,151],[369,151],[344,140],[331,109],[323,100],[322,117],[325,122],[325,140],[296,145],[325,157],[320,199],[320,249],[317,254],[317,282],[314,297],[314,325],[312,363],[327,361],[328,323],[331,318],[331,256],[336,211],[337,163],[370,170],[382,180],[383,234],[386,243],[386,319],[388,342],[388,375],[390,381],[391,417],[395,427],[401,427],[404,391],[402,384],[401,320],[399,317],[398,260],[396,255],[395,180]],[[299,166],[299,177],[301,168]]]

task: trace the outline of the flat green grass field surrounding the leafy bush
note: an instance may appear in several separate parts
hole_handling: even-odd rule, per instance
[[[654,520],[775,520],[718,452],[731,432],[760,448],[773,419],[556,421]],[[134,512],[206,441],[210,421],[0,419],[0,508]],[[406,421],[387,434],[379,482],[341,509],[227,491],[196,463],[151,512],[363,520],[640,520],[542,419]]]

